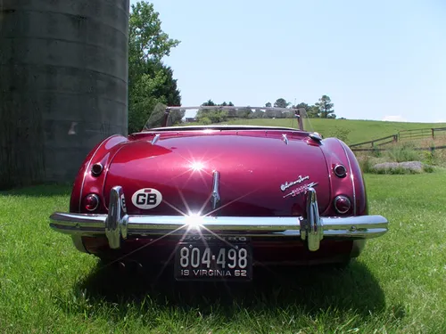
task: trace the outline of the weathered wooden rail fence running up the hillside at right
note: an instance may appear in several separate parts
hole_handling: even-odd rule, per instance
[[[424,138],[435,139],[438,135],[446,135],[446,127],[427,127],[421,129],[401,130],[398,134],[388,135],[383,138],[374,139],[363,143],[354,143],[349,145],[353,151],[372,151],[376,146],[382,146],[388,143],[398,143],[409,140],[417,140]],[[369,146],[371,149],[365,150],[361,146]]]

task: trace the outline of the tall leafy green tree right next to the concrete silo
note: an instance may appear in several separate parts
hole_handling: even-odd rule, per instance
[[[153,4],[133,4],[128,24],[128,132],[132,133],[141,130],[157,103],[181,104],[173,70],[161,62],[179,41],[162,31]]]

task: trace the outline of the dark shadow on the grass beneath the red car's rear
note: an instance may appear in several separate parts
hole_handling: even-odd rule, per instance
[[[99,264],[85,280],[78,281],[73,292],[87,296],[94,307],[103,302],[121,308],[135,303],[198,309],[201,314],[219,308],[228,317],[241,307],[254,312],[291,307],[309,314],[337,309],[364,316],[384,310],[383,290],[368,267],[357,261],[343,270],[333,266],[257,267],[253,275],[253,281],[244,283],[180,282],[173,278],[170,266],[160,273],[159,268],[141,272]]]

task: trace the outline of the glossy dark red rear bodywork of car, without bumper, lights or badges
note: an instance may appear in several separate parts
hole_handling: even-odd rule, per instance
[[[160,134],[152,144],[155,134]],[[284,140],[284,134],[286,142]],[[95,163],[103,173],[91,174]],[[333,168],[342,164],[347,176],[338,177]],[[219,171],[221,206],[211,207],[212,172]],[[95,213],[107,213],[111,187],[123,187],[126,199],[144,188],[162,193],[162,202],[152,209],[136,208],[126,201],[128,214],[181,215],[200,212],[212,216],[301,216],[305,202],[299,178],[318,183],[320,216],[368,214],[365,186],[359,165],[343,142],[328,138],[321,142],[309,133],[286,129],[163,130],[116,135],[98,144],[79,170],[70,199],[70,212],[90,213],[84,208],[87,194],[95,193],[101,204]],[[281,189],[285,184],[285,190]],[[351,209],[340,215],[333,200],[345,195]],[[169,260],[178,238],[153,242],[153,238],[130,238],[122,248],[111,249],[106,238],[82,237],[86,250],[99,257],[117,258],[134,252],[139,259]],[[252,240],[256,261],[264,263],[323,263],[357,257],[353,240],[322,240],[318,252],[310,252],[300,239]],[[136,249],[140,249],[137,250]]]

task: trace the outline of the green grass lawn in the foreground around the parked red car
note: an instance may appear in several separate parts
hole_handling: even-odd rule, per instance
[[[446,332],[446,173],[366,183],[390,232],[347,270],[260,272],[229,287],[101,268],[48,227],[69,188],[0,192],[0,332]]]

